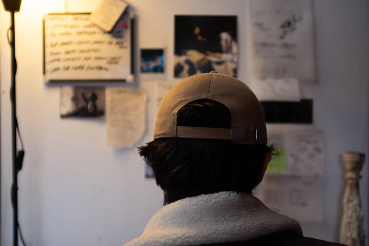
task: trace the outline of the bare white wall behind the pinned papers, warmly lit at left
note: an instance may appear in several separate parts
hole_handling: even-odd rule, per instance
[[[19,175],[19,221],[32,245],[122,245],[139,236],[157,209],[161,191],[144,179],[135,148],[108,148],[105,122],[59,119],[59,91],[42,82],[42,16],[48,12],[92,11],[98,0],[24,0],[16,14],[18,120],[26,156]],[[247,79],[247,13],[243,0],[132,0],[138,15],[138,46],[166,46],[167,79],[173,79],[173,15],[238,15],[239,78]],[[325,222],[302,224],[306,236],[337,240],[343,189],[340,155],[368,155],[368,23],[366,0],[314,1],[317,85],[304,86],[314,99],[315,125],[326,139]],[[9,14],[0,11],[1,245],[11,245]],[[136,52],[138,54],[138,52]],[[148,129],[156,114],[155,83],[148,89]],[[361,196],[368,233],[368,163]]]

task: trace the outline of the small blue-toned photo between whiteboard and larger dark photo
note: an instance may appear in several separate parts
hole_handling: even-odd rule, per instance
[[[141,49],[141,73],[164,73],[164,49]]]

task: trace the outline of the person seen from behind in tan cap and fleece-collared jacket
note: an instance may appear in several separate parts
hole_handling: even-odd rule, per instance
[[[339,245],[304,238],[297,221],[252,195],[273,153],[266,143],[261,106],[244,83],[216,72],[177,83],[154,141],[139,147],[165,206],[127,245]]]

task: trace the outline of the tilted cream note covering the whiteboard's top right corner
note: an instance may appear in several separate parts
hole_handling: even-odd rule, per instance
[[[90,21],[110,32],[128,7],[124,0],[101,0],[90,15]]]

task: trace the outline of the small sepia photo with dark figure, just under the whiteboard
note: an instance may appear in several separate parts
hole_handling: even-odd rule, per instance
[[[104,118],[105,88],[60,87],[61,118]]]

